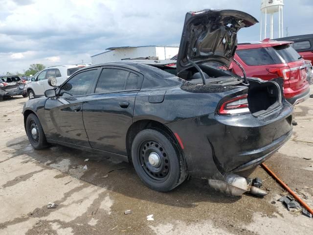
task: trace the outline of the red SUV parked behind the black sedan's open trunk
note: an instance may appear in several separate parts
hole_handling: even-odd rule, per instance
[[[245,69],[249,77],[270,80],[284,78],[284,95],[293,105],[310,96],[305,60],[290,46],[292,42],[263,40],[256,43],[238,44],[234,59]],[[243,75],[234,62],[230,70]]]

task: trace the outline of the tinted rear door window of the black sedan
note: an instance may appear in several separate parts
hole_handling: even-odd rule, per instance
[[[129,71],[117,69],[102,70],[95,93],[107,93],[124,90]]]

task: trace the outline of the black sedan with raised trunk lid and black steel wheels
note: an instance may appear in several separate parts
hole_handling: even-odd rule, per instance
[[[228,66],[237,31],[256,22],[233,10],[190,12],[177,66],[120,61],[75,72],[46,97],[25,103],[30,143],[122,157],[158,191],[188,175],[224,181],[261,164],[291,136],[282,80],[242,78],[206,64]]]

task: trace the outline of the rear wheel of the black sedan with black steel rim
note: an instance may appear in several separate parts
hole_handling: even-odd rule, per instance
[[[161,130],[145,129],[135,136],[132,161],[140,180],[156,191],[170,191],[187,177],[186,164],[177,145]]]

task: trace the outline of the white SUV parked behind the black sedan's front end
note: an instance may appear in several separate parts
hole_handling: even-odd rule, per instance
[[[43,96],[45,90],[52,89],[53,87],[48,84],[49,77],[56,77],[57,86],[60,86],[70,75],[84,67],[86,65],[60,65],[48,67],[43,71],[37,72],[32,77],[31,82],[27,84],[28,98]]]

